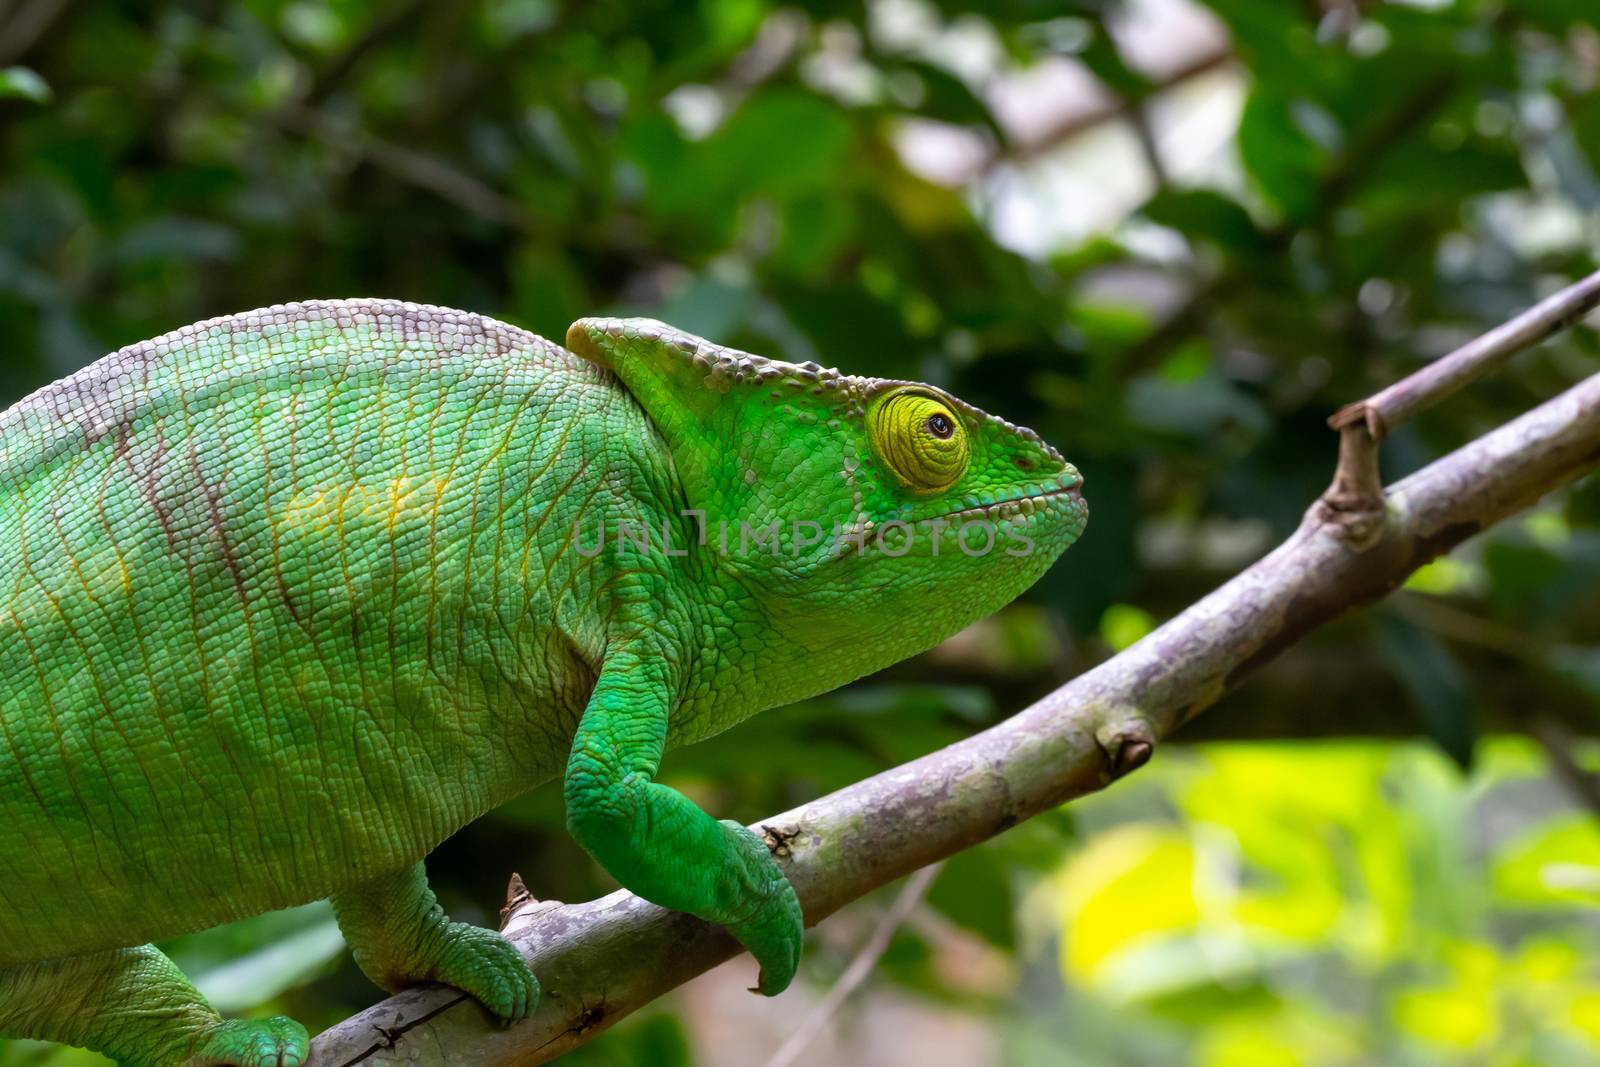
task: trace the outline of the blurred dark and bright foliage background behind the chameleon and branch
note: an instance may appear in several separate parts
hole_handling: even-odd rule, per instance
[[[277,301],[642,312],[920,378],[1086,474],[1086,537],[918,661],[669,758],[755,819],[962,737],[1296,525],[1325,418],[1600,251],[1592,0],[0,0],[0,402]],[[1595,370],[1576,330],[1397,434]],[[806,1062],[1600,1062],[1600,482],[1314,635],[1106,795],[950,861]],[[541,789],[430,861],[605,877]],[[714,973],[573,1064],[747,1067]],[[229,1011],[371,1003],[323,905],[186,937]],[[742,969],[741,969],[742,968]],[[0,1064],[102,1062],[0,1043]]]

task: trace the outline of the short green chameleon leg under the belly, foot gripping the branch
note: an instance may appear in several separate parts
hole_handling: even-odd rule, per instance
[[[515,945],[450,921],[422,864],[342,889],[333,913],[362,971],[392,993],[418,982],[454,985],[512,1021],[539,1005],[539,981]]]

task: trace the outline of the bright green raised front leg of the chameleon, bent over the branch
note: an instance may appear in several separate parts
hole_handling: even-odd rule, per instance
[[[800,901],[755,833],[651,781],[672,702],[661,659],[606,659],[573,737],[566,825],[627,889],[726,926],[760,963],[760,992],[773,997],[800,963]]]

